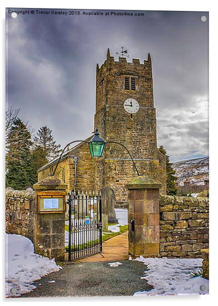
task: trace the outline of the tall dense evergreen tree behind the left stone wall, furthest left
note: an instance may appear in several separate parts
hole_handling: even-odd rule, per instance
[[[15,119],[8,132],[6,153],[6,182],[18,190],[35,183],[33,181],[31,132],[19,118]]]

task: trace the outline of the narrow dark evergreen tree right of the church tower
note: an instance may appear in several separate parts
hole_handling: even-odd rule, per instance
[[[158,150],[166,156],[166,172],[167,172],[167,194],[168,195],[176,195],[177,188],[175,180],[177,177],[175,176],[176,171],[172,167],[172,162],[170,162],[170,157],[167,155],[166,150],[163,146],[160,146]]]

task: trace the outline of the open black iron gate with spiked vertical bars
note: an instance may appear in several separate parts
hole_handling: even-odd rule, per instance
[[[68,261],[102,252],[101,193],[72,192],[69,205]]]

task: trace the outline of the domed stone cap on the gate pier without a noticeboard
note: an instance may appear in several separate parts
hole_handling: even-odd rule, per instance
[[[158,189],[161,188],[161,184],[152,177],[141,175],[133,178],[125,187],[127,189]]]

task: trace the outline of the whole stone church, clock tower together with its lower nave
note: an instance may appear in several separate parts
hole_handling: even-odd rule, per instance
[[[96,113],[94,130],[106,142],[118,142],[131,153],[140,175],[160,182],[160,193],[166,194],[166,158],[157,150],[156,112],[153,97],[150,54],[141,64],[110,56],[96,69]],[[86,141],[90,141],[91,135]],[[78,138],[80,139],[80,138]],[[38,170],[38,181],[51,175],[58,157]],[[117,208],[127,207],[125,184],[137,171],[120,145],[105,145],[101,157],[92,157],[87,143],[79,143],[63,153],[55,176],[68,184],[68,190],[100,191],[104,186],[115,192]]]

